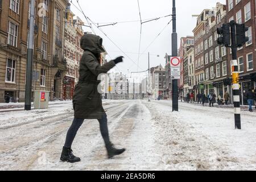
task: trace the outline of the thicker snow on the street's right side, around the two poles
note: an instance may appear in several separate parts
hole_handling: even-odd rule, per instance
[[[233,109],[145,102],[158,126],[163,161],[171,170],[256,170],[256,114],[242,112],[242,130],[234,130]]]

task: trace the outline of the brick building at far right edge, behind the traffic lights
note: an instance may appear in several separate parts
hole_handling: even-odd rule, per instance
[[[240,72],[241,84],[241,104],[247,105],[245,93],[250,88],[256,87],[256,38],[255,38],[255,1],[254,0],[226,0],[227,4],[227,19],[236,20],[237,23],[245,23],[249,27],[247,36],[249,42],[243,47],[238,48],[237,60],[238,69]],[[228,75],[231,78],[231,60],[232,55],[228,49]]]

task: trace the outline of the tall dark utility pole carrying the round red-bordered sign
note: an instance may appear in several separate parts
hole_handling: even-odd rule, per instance
[[[172,56],[177,56],[176,6],[172,0]],[[177,79],[172,80],[172,111],[179,111]]]

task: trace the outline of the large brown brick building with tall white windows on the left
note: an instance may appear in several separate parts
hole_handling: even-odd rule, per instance
[[[29,1],[0,2],[0,102],[6,97],[24,102]],[[42,3],[46,14],[41,15]],[[32,92],[49,91],[51,100],[56,88],[56,76],[65,75],[63,59],[65,0],[40,0],[35,3],[34,64]],[[50,46],[51,45],[51,46]]]

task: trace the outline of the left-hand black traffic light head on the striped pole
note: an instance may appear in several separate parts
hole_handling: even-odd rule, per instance
[[[218,27],[217,34],[221,35],[221,37],[218,38],[217,43],[228,47],[230,45],[230,24],[224,23],[222,24],[222,27]]]

